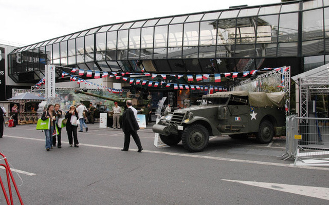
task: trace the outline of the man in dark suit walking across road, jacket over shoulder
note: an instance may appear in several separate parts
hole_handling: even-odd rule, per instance
[[[139,130],[139,126],[136,120],[137,110],[133,108],[132,100],[127,100],[126,105],[128,109],[126,109],[122,115],[122,131],[124,132],[124,145],[121,151],[129,150],[130,135],[132,135],[138,147],[138,152],[141,152],[143,148],[140,143],[139,136],[137,134],[137,130]]]

